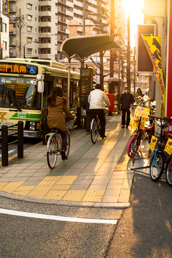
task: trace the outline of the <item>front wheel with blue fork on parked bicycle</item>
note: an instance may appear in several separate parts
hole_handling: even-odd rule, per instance
[[[161,152],[156,153],[153,155],[151,159],[151,164],[150,164],[150,176],[152,181],[156,182],[158,181],[163,173],[164,170],[164,157]]]

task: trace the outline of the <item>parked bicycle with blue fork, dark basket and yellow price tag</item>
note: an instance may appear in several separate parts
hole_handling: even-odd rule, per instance
[[[168,123],[172,121],[172,118],[169,118],[169,117],[164,117],[164,118],[154,117],[154,119],[160,119],[160,123],[161,123],[160,134],[157,132],[154,135],[155,138],[157,138],[157,142],[155,144],[157,149],[155,150],[155,153],[152,156],[152,159],[151,159],[151,162],[150,162],[150,176],[151,176],[152,181],[156,182],[161,178],[161,175],[162,175],[163,170],[164,170],[164,163],[165,163],[165,161],[167,162],[167,159],[166,159],[167,154],[165,155],[164,149],[166,147],[166,143],[167,143],[168,138],[170,136],[168,136],[168,135],[166,136],[165,134],[163,134],[163,128],[165,128],[168,125]],[[164,121],[165,123],[162,124],[162,121]],[[158,130],[159,130],[159,128],[158,128]],[[169,173],[169,163],[170,163],[170,161],[168,161],[167,163],[168,163],[167,170],[168,170],[168,173]],[[170,168],[171,168],[171,164],[170,164]],[[167,182],[168,182],[168,180],[167,180]],[[169,183],[170,183],[170,178],[169,178]]]

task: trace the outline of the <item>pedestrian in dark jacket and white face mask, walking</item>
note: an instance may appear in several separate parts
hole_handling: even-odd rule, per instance
[[[121,111],[122,111],[122,127],[121,128],[125,128],[125,124],[126,124],[126,128],[128,128],[129,124],[130,124],[130,107],[132,106],[132,104],[134,104],[135,100],[134,97],[131,93],[129,93],[129,88],[125,87],[124,88],[124,93],[122,93],[121,95],[121,99],[120,99],[120,103],[121,103]],[[127,112],[127,119],[126,119],[126,112]]]

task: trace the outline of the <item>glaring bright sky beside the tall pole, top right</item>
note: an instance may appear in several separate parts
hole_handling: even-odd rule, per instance
[[[143,24],[144,14],[142,13],[142,6],[144,6],[144,0],[124,0],[123,8],[130,13],[130,45],[131,48],[137,46],[137,24]]]

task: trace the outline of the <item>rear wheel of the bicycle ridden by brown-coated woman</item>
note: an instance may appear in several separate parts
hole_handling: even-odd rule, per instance
[[[49,144],[49,151],[47,152],[47,163],[49,168],[54,168],[57,161],[57,143],[56,143],[56,137],[52,136]]]

